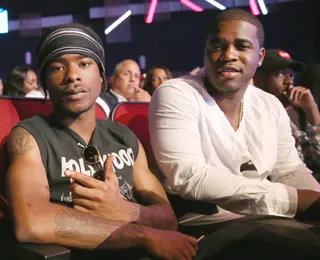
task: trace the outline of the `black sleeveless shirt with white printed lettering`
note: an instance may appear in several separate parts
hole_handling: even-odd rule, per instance
[[[68,190],[70,179],[64,176],[67,169],[92,176],[93,169],[86,165],[81,152],[87,145],[73,130],[58,123],[53,116],[35,116],[17,124],[36,140],[50,186],[50,200],[56,203],[72,203]],[[125,126],[110,120],[97,119],[96,128],[89,142],[100,151],[103,162],[107,156],[115,157],[114,168],[119,179],[121,193],[129,200],[133,196],[132,167],[138,155],[138,140]]]

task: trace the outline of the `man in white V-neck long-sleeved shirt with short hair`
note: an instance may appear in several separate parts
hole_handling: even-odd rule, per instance
[[[212,219],[231,212],[292,218],[311,205],[319,218],[320,185],[298,156],[287,112],[249,85],[265,56],[263,42],[251,13],[217,15],[206,41],[206,76],[168,80],[153,93],[152,148],[174,191],[219,206]]]

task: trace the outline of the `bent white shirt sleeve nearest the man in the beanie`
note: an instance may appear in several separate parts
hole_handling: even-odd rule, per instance
[[[182,197],[210,201],[239,214],[293,217],[295,188],[248,179],[206,162],[199,105],[189,92],[167,83],[154,92],[149,107],[151,145],[172,189]]]

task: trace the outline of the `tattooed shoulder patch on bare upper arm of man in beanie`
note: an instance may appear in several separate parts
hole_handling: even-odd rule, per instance
[[[32,149],[30,133],[21,127],[13,129],[8,140],[10,157],[25,155]]]

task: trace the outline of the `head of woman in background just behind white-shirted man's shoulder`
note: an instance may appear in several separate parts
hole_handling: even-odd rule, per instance
[[[168,79],[172,79],[172,74],[170,70],[164,66],[154,66],[152,67],[146,75],[144,80],[144,89],[152,95],[153,91],[159,87],[163,82]]]

